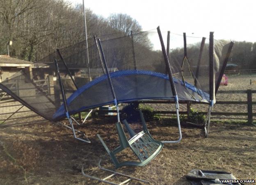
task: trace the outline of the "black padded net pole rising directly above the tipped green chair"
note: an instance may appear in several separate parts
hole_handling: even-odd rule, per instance
[[[104,63],[104,66],[105,66],[105,70],[106,70],[106,73],[107,73],[107,79],[108,79],[108,82],[110,84],[110,89],[111,89],[111,92],[112,92],[112,96],[114,98],[114,104],[115,106],[117,107],[117,121],[120,122],[120,116],[119,116],[119,107],[118,107],[118,102],[117,102],[117,96],[114,92],[114,87],[113,87],[113,84],[112,84],[112,80],[110,78],[110,73],[107,69],[107,63],[106,63],[106,59],[105,59],[105,55],[104,55],[104,52],[103,52],[103,48],[101,46],[101,39],[98,39],[98,44],[100,46],[100,50],[101,50],[101,56],[102,56],[102,59],[103,59],[103,63]]]

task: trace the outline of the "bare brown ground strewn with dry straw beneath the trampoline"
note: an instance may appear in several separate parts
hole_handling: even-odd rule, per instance
[[[73,139],[71,130],[49,122],[7,124],[0,128],[0,184],[98,184],[82,176],[101,178],[110,175],[99,171],[97,163],[114,169],[96,133],[107,146],[117,146],[116,118],[91,119],[80,130],[92,144]],[[161,119],[148,123],[155,139],[176,139],[176,123]],[[182,128],[179,144],[165,144],[161,153],[145,167],[121,167],[117,171],[149,180],[151,184],[190,184],[185,175],[192,169],[232,172],[238,179],[256,178],[256,127],[240,123],[213,122],[209,138],[199,128]],[[123,159],[130,156],[122,155]],[[123,178],[113,178],[115,182]],[[133,181],[130,184],[136,184]],[[137,183],[139,184],[139,183]]]

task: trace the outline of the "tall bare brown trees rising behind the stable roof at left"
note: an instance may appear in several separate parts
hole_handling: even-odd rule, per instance
[[[86,9],[88,38],[101,37],[142,27],[126,14],[103,18]],[[121,23],[121,24],[120,24]],[[38,61],[53,53],[85,40],[82,5],[73,7],[65,0],[0,0],[0,54],[28,61]]]

